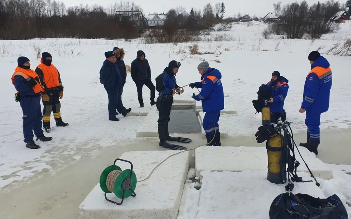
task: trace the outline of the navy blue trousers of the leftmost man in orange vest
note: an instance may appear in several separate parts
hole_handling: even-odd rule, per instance
[[[24,142],[33,140],[33,130],[37,137],[44,136],[41,129],[41,106],[40,96],[38,97],[21,97],[20,105],[23,112],[23,135]]]

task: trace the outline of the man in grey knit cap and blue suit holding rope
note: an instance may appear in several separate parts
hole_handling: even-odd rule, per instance
[[[202,111],[206,112],[203,128],[206,133],[207,145],[220,146],[218,120],[220,111],[224,109],[222,75],[218,69],[210,68],[208,62],[201,62],[198,65],[198,70],[201,74],[201,82],[191,83],[189,87],[201,88],[201,92],[198,95],[193,94],[192,98],[201,101]]]

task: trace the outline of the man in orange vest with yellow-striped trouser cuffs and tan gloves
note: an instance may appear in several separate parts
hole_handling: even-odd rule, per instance
[[[61,118],[61,103],[60,99],[64,96],[64,87],[62,86],[60,73],[57,68],[51,64],[52,56],[48,52],[41,54],[40,64],[35,69],[39,75],[42,88],[45,91],[42,93],[43,108],[43,127],[46,132],[51,132],[50,116],[51,111],[54,114],[56,126],[67,126],[68,123],[62,121]]]

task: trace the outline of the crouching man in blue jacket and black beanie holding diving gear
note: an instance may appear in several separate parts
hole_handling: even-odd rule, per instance
[[[270,100],[268,101],[271,109],[271,121],[275,122],[279,118],[285,121],[285,111],[284,111],[284,101],[289,90],[289,81],[280,76],[279,71],[273,71],[272,80],[267,83],[267,90],[270,95]]]

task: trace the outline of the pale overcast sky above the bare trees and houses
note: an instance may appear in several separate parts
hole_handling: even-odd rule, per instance
[[[115,0],[61,0],[64,2],[66,7],[79,5],[81,2],[88,5],[100,4],[102,6],[108,6],[116,2]],[[273,12],[273,3],[278,2],[279,0],[225,0],[223,1],[226,6],[226,13],[224,14],[225,17],[233,16],[234,14],[238,14],[240,12],[241,15],[249,14],[250,16],[256,15],[257,17],[262,17],[269,12]],[[295,2],[295,0],[281,0],[282,5],[286,3]],[[301,2],[302,0],[297,0]],[[309,5],[313,5],[317,3],[318,0],[306,0]],[[326,0],[320,0],[320,3],[325,2]],[[117,1],[118,2],[118,1]],[[171,8],[175,8],[178,6],[185,7],[186,11],[190,12],[191,7],[194,9],[201,9],[203,10],[204,6],[207,3],[211,3],[212,6],[216,4],[216,0],[134,0],[134,3],[141,6],[147,16],[149,13],[162,13],[167,12]],[[344,3],[346,0],[340,0],[340,3]]]

